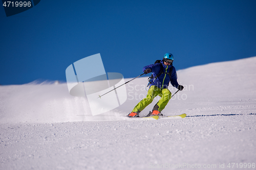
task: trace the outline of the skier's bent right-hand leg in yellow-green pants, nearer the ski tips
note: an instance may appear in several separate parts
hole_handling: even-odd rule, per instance
[[[169,89],[164,88],[162,89],[162,92],[159,94],[159,96],[161,97],[161,99],[154,106],[153,110],[158,110],[159,112],[161,112],[168,104],[170,98],[172,98],[172,93],[169,91]]]

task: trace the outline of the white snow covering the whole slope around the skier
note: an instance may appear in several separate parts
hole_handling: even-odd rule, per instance
[[[251,57],[178,70],[185,88],[162,113],[183,119],[124,117],[146,95],[147,77],[97,116],[66,83],[0,86],[0,169],[255,169],[244,166],[256,163],[255,68]]]

